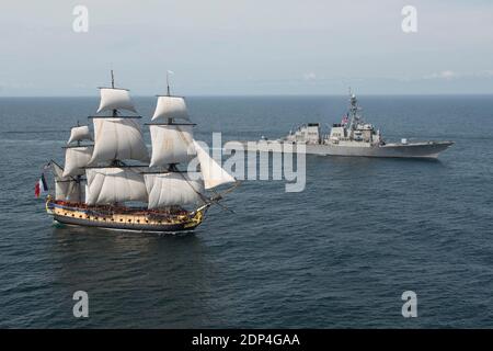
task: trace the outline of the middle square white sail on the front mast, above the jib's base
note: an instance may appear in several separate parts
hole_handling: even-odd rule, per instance
[[[192,125],[150,125],[152,157],[149,167],[186,163],[195,155]]]

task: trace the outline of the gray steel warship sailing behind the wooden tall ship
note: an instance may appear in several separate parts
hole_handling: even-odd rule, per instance
[[[397,158],[437,158],[454,141],[408,141],[386,143],[379,129],[366,123],[360,113],[356,95],[349,93],[349,109],[341,123],[333,124],[328,135],[322,135],[320,123],[308,123],[289,132],[287,136],[276,140],[265,137],[257,143],[239,141],[248,150],[299,151],[296,146],[303,145],[306,154],[321,156],[363,156],[363,157],[397,157]],[[289,148],[274,147],[276,145],[295,146]]]

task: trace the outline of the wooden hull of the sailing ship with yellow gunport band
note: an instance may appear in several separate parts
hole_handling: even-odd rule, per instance
[[[160,215],[142,210],[103,213],[96,207],[68,206],[48,199],[46,211],[55,220],[67,225],[114,230],[179,233],[194,230],[203,222],[206,208],[173,215]]]

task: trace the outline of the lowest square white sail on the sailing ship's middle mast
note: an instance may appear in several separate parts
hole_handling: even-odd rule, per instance
[[[87,169],[88,205],[105,205],[126,201],[147,202],[147,190],[139,168]]]

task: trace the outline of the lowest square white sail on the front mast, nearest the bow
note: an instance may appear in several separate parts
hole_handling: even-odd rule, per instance
[[[200,180],[191,180],[183,173],[159,173],[144,176],[149,194],[149,208],[198,203],[204,185]]]

